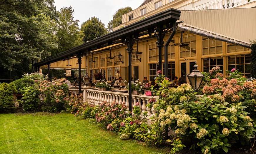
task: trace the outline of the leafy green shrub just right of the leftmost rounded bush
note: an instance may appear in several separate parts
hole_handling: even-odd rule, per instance
[[[40,105],[39,90],[36,85],[25,87],[22,91],[23,97],[20,101],[24,111],[37,111]]]

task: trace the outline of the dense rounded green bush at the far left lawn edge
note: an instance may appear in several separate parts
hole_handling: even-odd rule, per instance
[[[8,113],[16,111],[14,94],[17,92],[14,83],[2,83],[0,85],[0,112]]]

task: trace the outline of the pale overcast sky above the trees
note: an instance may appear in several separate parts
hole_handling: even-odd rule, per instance
[[[79,20],[79,27],[90,17],[97,17],[107,27],[109,21],[118,9],[126,6],[133,10],[137,9],[144,0],[54,0],[56,10],[59,11],[63,6],[71,6],[74,9],[74,19]]]

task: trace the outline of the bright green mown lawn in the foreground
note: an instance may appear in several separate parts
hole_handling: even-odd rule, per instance
[[[0,114],[0,153],[161,153],[70,113]]]

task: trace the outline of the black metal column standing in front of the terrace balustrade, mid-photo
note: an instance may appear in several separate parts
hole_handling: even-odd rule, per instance
[[[134,38],[127,37],[125,40],[127,45],[127,52],[128,52],[128,85],[129,85],[129,111],[132,112],[132,51],[133,51],[133,44],[134,44]]]

